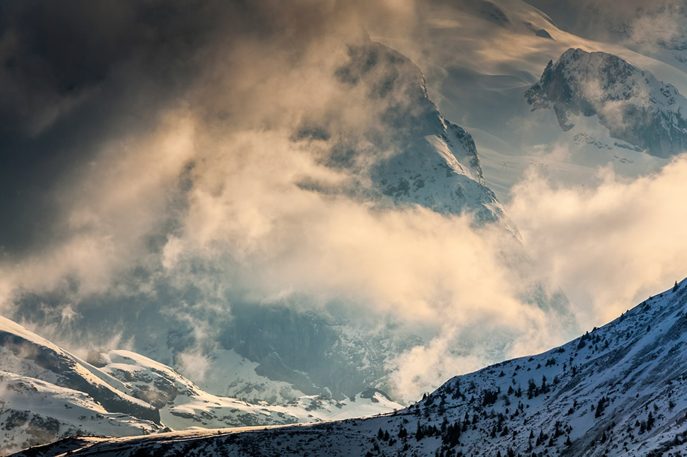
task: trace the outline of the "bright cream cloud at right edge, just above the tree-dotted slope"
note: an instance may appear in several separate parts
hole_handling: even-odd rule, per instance
[[[533,174],[513,189],[508,211],[543,277],[591,327],[685,276],[686,176],[684,155],[636,180],[602,170],[594,188],[556,187]]]

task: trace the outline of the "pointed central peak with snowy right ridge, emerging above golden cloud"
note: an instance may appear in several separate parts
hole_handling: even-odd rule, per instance
[[[396,206],[419,204],[443,214],[471,213],[477,225],[497,222],[517,233],[485,184],[475,142],[440,115],[418,66],[372,40],[348,48],[348,62],[337,70],[339,82],[350,89],[363,87],[368,98],[385,109],[374,119],[374,132],[363,132],[376,158],[370,157],[369,146],[347,150],[342,144],[335,146],[330,164],[354,169],[357,162],[372,160],[373,200],[379,200],[374,196],[381,193]],[[308,129],[325,130],[312,125]],[[391,152],[379,154],[385,150]]]

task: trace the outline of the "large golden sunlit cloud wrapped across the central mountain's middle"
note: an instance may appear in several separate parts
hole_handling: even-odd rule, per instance
[[[301,185],[305,177],[336,189],[359,176],[323,165],[322,141],[293,141],[289,128],[220,133],[198,119],[174,111],[146,135],[104,143],[98,161],[60,199],[66,238],[5,263],[3,277],[14,281],[6,309],[24,315],[29,308],[16,294],[52,294],[56,303],[36,310],[44,316],[39,333],[72,338],[60,337],[51,323],[64,314],[54,308],[69,309],[82,340],[68,344],[98,347],[111,337],[105,330],[94,338],[88,316],[111,317],[92,308],[121,296],[121,316],[109,331],[130,340],[127,316],[141,311],[126,297],[142,292],[161,315],[157,325],[190,329],[198,350],[184,348],[181,357],[212,347],[214,323],[231,318],[227,296],[234,290],[258,303],[308,296],[295,305],[301,309],[337,301],[370,318],[393,316],[426,336],[426,348],[390,361],[399,375],[417,373],[417,382],[392,377],[394,393],[405,399],[504,353],[545,349],[551,329],[561,327],[559,314],[523,298],[536,279],[522,281],[517,263],[504,266],[504,252],[515,255],[520,246],[500,229],[473,229],[468,215],[383,208],[346,192],[313,191]],[[180,180],[188,180],[183,191]],[[162,236],[151,247],[156,233]],[[131,279],[137,268],[148,279]],[[198,294],[159,301],[160,281]],[[137,325],[145,331],[146,324]],[[493,334],[501,337],[494,341]],[[458,352],[444,358],[439,351],[447,348]]]

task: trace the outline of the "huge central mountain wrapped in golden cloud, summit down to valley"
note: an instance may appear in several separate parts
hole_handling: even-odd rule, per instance
[[[477,344],[485,358],[514,337],[541,344],[549,314],[568,316],[554,327],[572,332],[560,291],[528,274],[471,135],[440,115],[413,62],[350,29],[324,43],[293,36],[309,47],[286,75],[277,58],[265,73],[243,47],[220,46],[269,84],[227,87],[221,104],[190,73],[157,130],[101,140],[98,159],[77,167],[84,179],[56,191],[52,227],[63,233],[45,251],[56,262],[29,256],[5,277],[9,315],[84,352],[123,346],[214,392],[270,401],[370,386],[410,399],[473,357],[458,348]],[[231,80],[223,62],[203,63]],[[270,102],[227,113],[246,90]],[[460,235],[447,244],[447,233]],[[453,277],[462,257],[479,263]],[[443,318],[457,303],[471,312]],[[503,303],[520,320],[515,333]],[[475,320],[502,336],[459,331]],[[456,338],[426,378],[412,351]],[[396,377],[394,360],[416,365],[415,381]],[[236,362],[249,368],[237,373]]]

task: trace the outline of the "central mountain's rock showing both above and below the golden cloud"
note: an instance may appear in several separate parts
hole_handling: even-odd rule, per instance
[[[417,65],[389,47],[364,40],[348,47],[346,63],[336,75],[346,89],[363,91],[384,108],[370,131],[356,132],[364,140],[357,143],[346,137],[335,141],[336,127],[317,119],[295,132],[296,141],[329,138],[334,145],[325,163],[359,176],[343,189],[319,183],[302,186],[327,194],[350,192],[379,207],[420,205],[447,215],[468,213],[477,226],[497,224],[507,235],[517,236],[515,224],[486,186],[471,135],[440,115]],[[221,331],[219,348],[207,357],[218,361],[238,354],[246,366],[258,366],[245,375],[210,373],[203,386],[243,399],[267,396],[281,401],[289,395],[324,392],[344,399],[368,386],[389,391],[393,386],[387,382],[387,361],[421,342],[399,325],[364,325],[289,307],[235,303],[232,314]],[[256,373],[262,379],[255,379]],[[265,383],[270,387],[260,388]],[[273,396],[278,398],[269,398]]]

